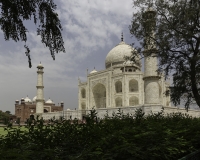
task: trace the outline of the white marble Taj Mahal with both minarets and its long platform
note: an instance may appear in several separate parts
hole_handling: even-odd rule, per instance
[[[156,13],[149,9],[145,14],[147,15],[146,21],[148,21]],[[154,35],[152,30],[149,33]],[[156,50],[156,46],[151,40],[146,42],[143,51],[144,71],[142,71],[141,57],[137,54],[136,49],[125,43],[122,34],[119,44],[112,48],[105,57],[105,69],[97,71],[94,68],[90,73],[87,72],[86,81],[78,79],[77,110],[64,110],[64,102],[61,102],[60,106],[55,106],[53,102],[49,103],[49,101],[45,103],[44,67],[39,64],[37,66],[37,95],[32,104],[35,107],[34,115],[39,115],[44,120],[53,117],[82,120],[92,109],[97,111],[98,118],[104,118],[105,115],[112,116],[113,112],[117,112],[119,109],[124,114],[134,114],[136,109],[141,108],[145,114],[163,111],[164,114],[181,112],[193,117],[200,117],[200,110],[189,109],[186,111],[185,108],[174,107],[171,104],[170,96],[165,94],[169,90],[170,83],[165,80],[162,73],[157,71],[158,58],[156,54],[148,55],[152,48]],[[126,57],[132,56],[134,56],[134,60],[126,60]],[[21,107],[24,105],[26,103],[24,104],[22,101]],[[16,111],[20,110],[18,101],[16,101],[15,107]],[[27,108],[30,110],[31,106],[27,104]],[[45,112],[45,109],[46,111],[48,109],[48,112]],[[31,110],[29,112],[31,113]]]

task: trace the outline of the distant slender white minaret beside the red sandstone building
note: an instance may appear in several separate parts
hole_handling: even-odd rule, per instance
[[[38,77],[37,77],[37,98],[36,98],[36,114],[37,113],[43,113],[44,112],[44,85],[43,85],[43,66],[40,62],[40,64],[38,64],[37,66],[38,71]]]

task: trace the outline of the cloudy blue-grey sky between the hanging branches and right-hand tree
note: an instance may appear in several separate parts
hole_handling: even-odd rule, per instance
[[[44,97],[65,109],[78,108],[78,77],[86,81],[90,71],[105,69],[105,58],[124,33],[127,44],[131,38],[129,25],[133,13],[132,0],[54,0],[63,27],[66,53],[58,53],[55,61],[41,43],[32,21],[26,45],[31,50],[32,68],[28,67],[24,42],[5,41],[0,31],[0,110],[14,114],[15,100],[32,100],[36,96],[37,65],[44,66]]]

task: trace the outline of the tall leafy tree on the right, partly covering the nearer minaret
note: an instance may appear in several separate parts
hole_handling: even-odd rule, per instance
[[[158,71],[173,77],[170,86],[172,102],[180,104],[186,97],[185,107],[189,108],[193,100],[200,107],[200,1],[199,0],[133,0],[137,7],[133,13],[130,33],[140,46],[136,49],[143,55],[149,39],[156,50],[149,50],[149,56],[156,53],[159,59]],[[148,8],[155,11],[155,25],[145,21]],[[150,9],[151,10],[151,9]],[[149,34],[149,29],[154,34]]]

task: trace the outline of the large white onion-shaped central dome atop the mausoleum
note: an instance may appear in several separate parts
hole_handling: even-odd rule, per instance
[[[111,66],[114,67],[123,67],[125,62],[125,57],[131,57],[132,52],[134,51],[133,47],[126,44],[125,42],[120,42],[117,46],[115,46],[106,56],[106,69]],[[138,58],[138,64],[139,58]],[[138,66],[139,67],[139,66]]]

